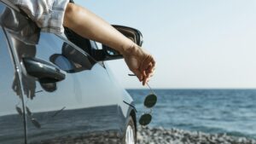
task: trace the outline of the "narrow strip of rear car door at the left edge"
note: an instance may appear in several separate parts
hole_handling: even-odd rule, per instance
[[[0,14],[5,6],[0,3]],[[24,144],[26,127],[19,77],[0,26],[0,143]]]

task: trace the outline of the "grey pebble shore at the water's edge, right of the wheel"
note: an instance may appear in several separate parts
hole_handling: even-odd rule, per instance
[[[256,140],[201,131],[138,127],[137,144],[256,144]]]

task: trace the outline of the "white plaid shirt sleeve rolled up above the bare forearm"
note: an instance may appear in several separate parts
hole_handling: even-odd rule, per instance
[[[69,0],[9,0],[28,17],[36,22],[44,32],[64,32],[63,20]]]

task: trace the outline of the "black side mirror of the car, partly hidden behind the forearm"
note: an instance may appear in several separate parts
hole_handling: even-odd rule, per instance
[[[113,27],[125,35],[125,37],[130,38],[131,41],[137,43],[137,45],[143,45],[143,34],[137,29],[116,25],[113,25]],[[114,50],[104,44],[102,44],[102,49],[97,49],[92,55],[96,58],[96,60],[117,60],[123,58],[123,55],[120,55],[117,50]]]

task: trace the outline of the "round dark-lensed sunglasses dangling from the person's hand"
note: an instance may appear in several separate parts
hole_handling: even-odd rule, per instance
[[[128,74],[128,76],[136,76],[134,74]],[[153,107],[156,104],[157,96],[155,95],[153,89],[147,83],[148,89],[150,89],[150,94],[145,97],[143,102],[144,107],[149,108],[149,112],[144,112],[143,115],[139,118],[139,124],[142,126],[148,125],[152,120],[151,113],[153,112]]]

